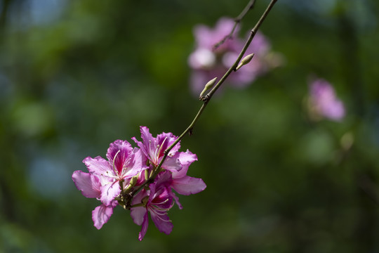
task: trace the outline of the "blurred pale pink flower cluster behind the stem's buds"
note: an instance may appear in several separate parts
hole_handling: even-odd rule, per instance
[[[222,76],[234,64],[239,52],[244,47],[244,41],[237,37],[227,39],[215,47],[230,34],[233,26],[233,19],[220,18],[214,29],[206,25],[197,25],[194,28],[197,47],[189,56],[188,64],[193,70],[191,89],[196,96],[199,95],[208,80]],[[237,32],[238,29],[234,33],[237,34]],[[251,53],[255,54],[254,60],[242,67],[241,70],[230,74],[232,86],[243,88],[251,84],[258,76],[282,63],[281,56],[271,51],[270,42],[261,32],[255,34],[246,51],[246,55]]]

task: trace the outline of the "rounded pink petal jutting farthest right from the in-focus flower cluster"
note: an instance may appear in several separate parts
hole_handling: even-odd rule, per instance
[[[174,179],[172,187],[181,195],[190,195],[200,193],[206,188],[206,184],[202,179],[184,176],[180,179]]]

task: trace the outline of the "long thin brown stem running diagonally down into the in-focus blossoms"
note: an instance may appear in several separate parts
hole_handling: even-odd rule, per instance
[[[254,1],[251,1],[251,2],[254,2]],[[257,24],[255,25],[253,30],[251,30],[250,36],[248,37],[248,40],[246,41],[244,48],[242,48],[241,53],[239,53],[239,56],[238,56],[236,62],[232,65],[232,67],[230,67],[229,70],[227,70],[227,72],[220,79],[220,81],[218,81],[218,83],[215,84],[215,86],[213,86],[213,89],[211,91],[209,91],[209,93],[205,96],[204,103],[203,103],[203,105],[201,105],[201,108],[197,112],[197,115],[194,117],[191,124],[189,124],[187,129],[185,129],[185,131],[183,131],[182,134],[180,134],[180,136],[168,148],[166,148],[166,150],[164,150],[164,156],[162,157],[161,162],[159,162],[157,168],[154,169],[154,172],[149,176],[149,179],[147,179],[144,183],[142,183],[142,185],[138,186],[138,188],[133,190],[133,192],[131,193],[131,196],[134,196],[135,194],[139,193],[140,190],[142,190],[142,188],[144,188],[147,184],[152,183],[154,181],[155,177],[162,170],[161,169],[162,164],[166,160],[168,153],[170,153],[170,151],[173,149],[173,147],[175,147],[175,145],[178,144],[186,134],[192,134],[192,129],[194,129],[194,125],[196,124],[196,122],[199,119],[199,117],[201,116],[201,114],[204,112],[206,105],[208,105],[209,100],[211,100],[213,94],[215,93],[215,91],[217,91],[217,89],[221,86],[221,84],[225,81],[225,79],[227,79],[227,77],[229,77],[230,73],[235,71],[235,68],[237,67],[237,65],[241,61],[242,56],[244,56],[244,53],[246,52],[248,46],[251,44],[251,41],[253,40],[253,38],[254,38],[256,32],[258,31],[260,25],[262,25],[263,20],[265,20],[268,13],[270,13],[270,11],[272,9],[272,6],[274,6],[274,4],[276,2],[277,2],[277,0],[272,0],[270,2],[270,4],[267,6],[265,12],[262,14],[262,16],[258,20]],[[244,11],[242,13],[244,13]],[[247,11],[246,11],[246,13],[247,13]],[[128,202],[130,202],[130,201],[131,201],[131,198],[128,199]]]

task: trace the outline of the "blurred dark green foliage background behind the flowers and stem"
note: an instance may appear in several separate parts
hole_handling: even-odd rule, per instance
[[[261,31],[281,67],[225,87],[182,150],[206,190],[180,196],[171,235],[121,207],[98,231],[72,182],[109,143],[181,134],[193,27],[234,18],[230,0],[0,1],[0,252],[379,252],[379,3],[279,0]],[[269,1],[241,22],[251,30]],[[310,74],[346,107],[312,121]]]

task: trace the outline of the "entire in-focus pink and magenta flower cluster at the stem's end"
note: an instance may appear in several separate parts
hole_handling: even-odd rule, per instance
[[[182,209],[173,190],[190,195],[204,190],[206,184],[187,176],[188,167],[197,156],[189,150],[179,152],[180,142],[161,162],[164,151],[178,137],[162,133],[154,138],[146,126],[141,126],[140,131],[142,141],[132,138],[138,148],[128,141],[114,141],[107,150],[107,160],[86,157],[83,162],[89,173],[74,171],[72,179],[85,197],[95,197],[101,202],[92,212],[96,228],[100,229],[113,214],[114,207],[121,205],[131,209],[133,221],[142,226],[138,237],[142,240],[147,231],[148,213],[159,231],[171,233],[173,224],[167,212],[174,203]]]

